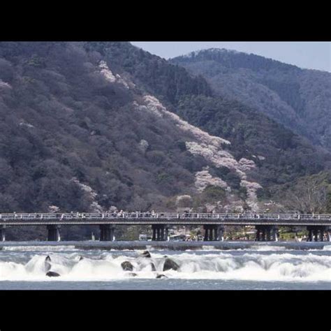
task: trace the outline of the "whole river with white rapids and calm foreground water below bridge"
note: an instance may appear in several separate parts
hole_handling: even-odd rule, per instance
[[[89,249],[88,243],[84,249],[69,243],[3,243],[0,290],[331,290],[330,244],[148,247],[152,257],[145,258],[140,249]],[[165,256],[179,270],[163,272]],[[124,261],[135,275],[122,270]],[[47,277],[48,271],[60,276]],[[167,278],[156,279],[158,274]]]

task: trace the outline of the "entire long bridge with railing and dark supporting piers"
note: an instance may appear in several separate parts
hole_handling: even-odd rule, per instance
[[[203,226],[205,241],[222,240],[225,226],[255,226],[256,241],[277,240],[278,226],[307,227],[307,241],[330,241],[331,214],[253,213],[11,213],[0,214],[0,240],[6,240],[7,226],[46,226],[47,240],[59,241],[61,226],[98,225],[100,240],[112,241],[115,226],[152,226],[152,240],[168,238],[170,226]]]

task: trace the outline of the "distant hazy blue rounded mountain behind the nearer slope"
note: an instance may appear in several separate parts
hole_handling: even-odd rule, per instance
[[[171,63],[203,75],[216,94],[240,101],[331,151],[331,73],[215,48]]]

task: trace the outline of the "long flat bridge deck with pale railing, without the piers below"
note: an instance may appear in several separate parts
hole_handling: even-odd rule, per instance
[[[210,214],[210,213],[34,213],[0,214],[0,225],[203,225],[331,226],[331,214]]]

